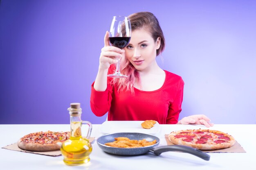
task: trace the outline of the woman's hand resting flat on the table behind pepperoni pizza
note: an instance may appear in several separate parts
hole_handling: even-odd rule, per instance
[[[213,123],[210,123],[210,119],[205,115],[192,115],[184,117],[177,124],[204,124],[206,127],[213,126]]]

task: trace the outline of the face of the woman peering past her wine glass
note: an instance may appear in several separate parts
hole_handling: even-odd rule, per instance
[[[136,70],[142,71],[156,63],[155,57],[159,47],[160,38],[155,42],[146,29],[136,29],[132,31],[130,43],[125,48],[126,58]]]

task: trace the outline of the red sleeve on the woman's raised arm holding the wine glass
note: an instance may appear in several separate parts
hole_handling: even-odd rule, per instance
[[[93,87],[92,83],[90,105],[92,112],[96,116],[105,115],[111,106],[112,101],[112,86],[108,83],[107,89],[104,92],[98,92]]]

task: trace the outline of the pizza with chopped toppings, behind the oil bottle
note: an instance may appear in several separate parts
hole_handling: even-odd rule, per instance
[[[70,132],[35,132],[18,140],[18,147],[32,151],[59,150],[63,142],[70,138]]]

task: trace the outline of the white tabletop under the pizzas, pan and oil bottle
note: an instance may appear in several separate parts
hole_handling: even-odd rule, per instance
[[[99,137],[100,124],[93,124],[92,137]],[[207,129],[202,125],[161,125],[155,134],[160,138],[159,146],[166,145],[164,134],[182,129]],[[151,153],[140,156],[115,156],[103,152],[94,141],[91,161],[82,166],[67,166],[63,157],[50,157],[3,149],[28,133],[36,131],[69,131],[69,124],[13,124],[0,125],[0,169],[1,170],[236,170],[255,169],[256,124],[215,124],[209,129],[220,130],[234,136],[246,153],[208,153],[210,161],[204,161],[188,153],[166,152],[159,156]]]

